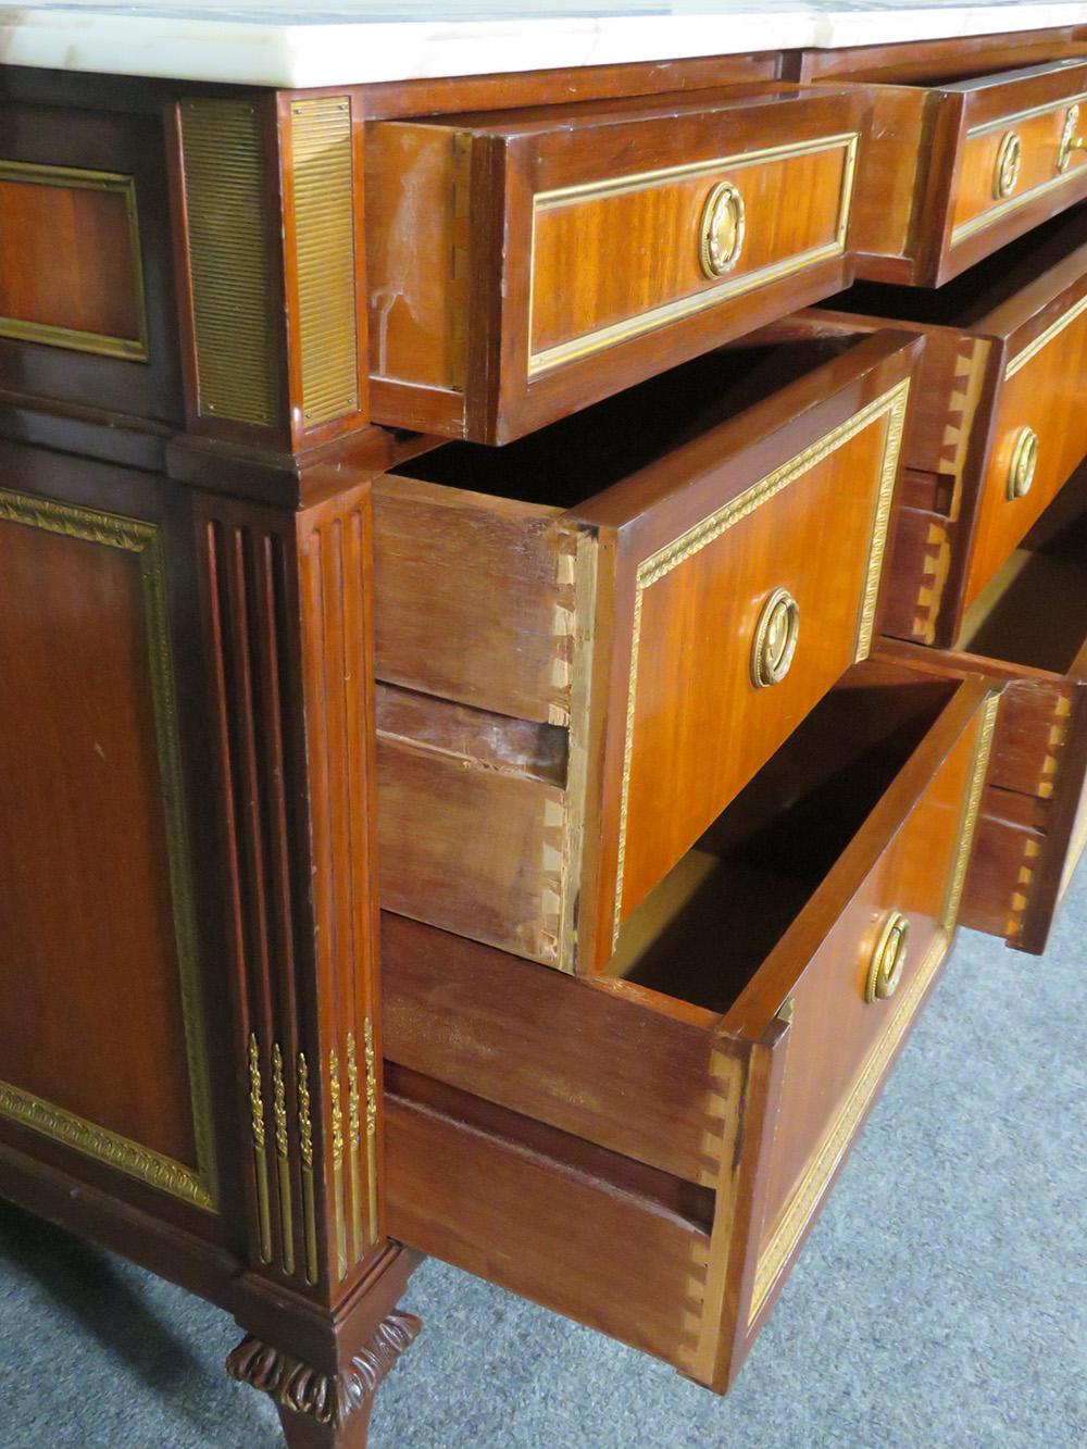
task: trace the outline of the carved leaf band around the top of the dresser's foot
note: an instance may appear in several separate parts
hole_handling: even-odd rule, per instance
[[[239,1384],[268,1394],[281,1408],[342,1429],[351,1414],[372,1398],[400,1355],[419,1337],[422,1326],[413,1313],[394,1310],[339,1374],[322,1374],[249,1336],[229,1355],[226,1371]]]

